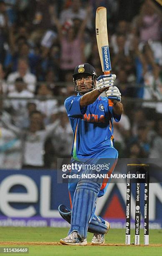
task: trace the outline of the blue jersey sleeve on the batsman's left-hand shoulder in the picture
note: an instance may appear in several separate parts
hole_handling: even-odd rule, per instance
[[[86,113],[87,107],[81,108],[80,100],[81,100],[81,96],[80,97],[71,96],[65,100],[64,105],[65,105],[68,117],[76,116],[76,115],[84,115]]]

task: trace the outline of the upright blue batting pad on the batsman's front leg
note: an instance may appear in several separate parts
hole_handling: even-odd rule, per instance
[[[70,235],[73,231],[78,231],[82,239],[87,237],[88,224],[94,215],[96,197],[101,184],[92,180],[82,179],[78,182],[73,197],[73,207],[71,212]]]

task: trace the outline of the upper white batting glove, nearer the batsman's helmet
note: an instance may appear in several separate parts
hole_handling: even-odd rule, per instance
[[[104,92],[106,88],[114,85],[115,79],[115,74],[102,75],[98,77],[96,81],[96,89],[100,92]]]

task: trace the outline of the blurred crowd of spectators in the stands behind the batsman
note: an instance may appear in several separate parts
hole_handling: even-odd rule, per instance
[[[159,2],[159,1],[158,1]],[[123,158],[162,156],[162,11],[155,0],[0,0],[0,168],[56,168],[73,133],[64,100],[77,64],[102,74],[96,8],[107,8]]]

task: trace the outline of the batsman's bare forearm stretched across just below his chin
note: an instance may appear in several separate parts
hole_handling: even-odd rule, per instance
[[[99,97],[100,94],[101,94],[101,92],[98,91],[97,89],[84,94],[80,100],[81,108],[84,108],[84,107],[90,105],[91,103],[93,103]]]

